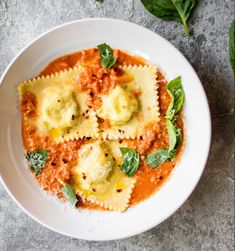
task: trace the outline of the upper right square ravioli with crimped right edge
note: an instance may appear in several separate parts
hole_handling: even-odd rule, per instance
[[[108,121],[101,130],[103,139],[134,139],[144,129],[159,121],[157,70],[153,66],[122,66],[129,76],[128,83],[118,84],[106,95],[97,116]]]

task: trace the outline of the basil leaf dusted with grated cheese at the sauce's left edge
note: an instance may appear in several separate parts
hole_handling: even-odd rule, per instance
[[[48,159],[47,150],[36,150],[25,154],[30,168],[38,175],[45,166]]]

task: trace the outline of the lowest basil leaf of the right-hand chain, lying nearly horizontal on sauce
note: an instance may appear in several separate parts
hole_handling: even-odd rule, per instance
[[[152,168],[157,168],[163,162],[172,161],[174,157],[175,150],[169,151],[166,148],[161,148],[158,151],[148,155],[145,162]]]

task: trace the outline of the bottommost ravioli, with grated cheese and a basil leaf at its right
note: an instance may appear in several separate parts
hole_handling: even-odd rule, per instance
[[[121,145],[115,141],[96,141],[79,150],[71,170],[76,192],[106,209],[124,211],[128,207],[135,178],[120,171]]]

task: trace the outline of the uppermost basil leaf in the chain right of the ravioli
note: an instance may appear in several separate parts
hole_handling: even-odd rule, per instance
[[[184,89],[181,84],[181,77],[177,77],[170,81],[166,89],[171,96],[171,103],[167,109],[165,117],[172,120],[184,103]]]

